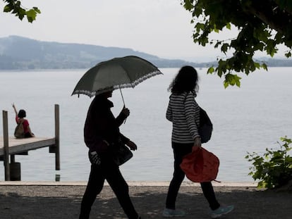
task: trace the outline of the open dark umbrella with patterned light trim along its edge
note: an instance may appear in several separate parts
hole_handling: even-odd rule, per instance
[[[147,78],[159,74],[162,73],[155,65],[138,56],[113,58],[87,70],[72,95],[85,94],[92,97],[113,89],[135,87]]]

